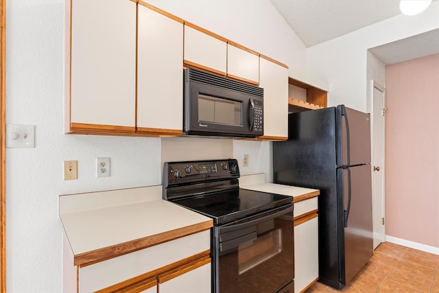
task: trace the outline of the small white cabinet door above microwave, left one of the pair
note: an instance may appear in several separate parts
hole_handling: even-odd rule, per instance
[[[185,25],[185,64],[226,75],[226,41]]]

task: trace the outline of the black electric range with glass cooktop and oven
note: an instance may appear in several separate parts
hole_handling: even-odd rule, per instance
[[[165,163],[163,199],[213,219],[212,292],[294,292],[292,197],[238,178],[236,159]]]

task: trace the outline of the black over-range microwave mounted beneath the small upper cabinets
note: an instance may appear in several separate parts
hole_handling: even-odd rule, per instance
[[[263,89],[197,69],[184,77],[184,135],[263,135]]]

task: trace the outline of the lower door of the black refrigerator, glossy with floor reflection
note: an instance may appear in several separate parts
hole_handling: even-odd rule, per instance
[[[370,165],[359,165],[337,170],[339,178],[342,176],[339,191],[343,194],[345,228],[344,253],[340,252],[340,282],[344,285],[351,281],[373,254],[370,168]]]

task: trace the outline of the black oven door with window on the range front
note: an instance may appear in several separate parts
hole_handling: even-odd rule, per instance
[[[215,292],[294,292],[292,211],[287,204],[214,227]]]

